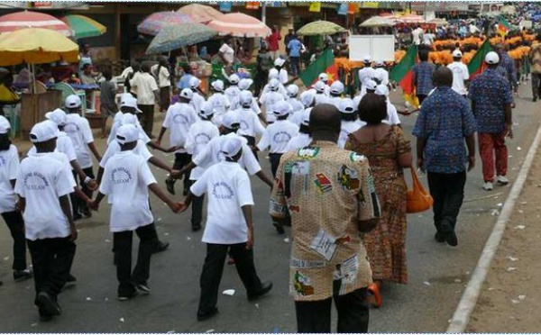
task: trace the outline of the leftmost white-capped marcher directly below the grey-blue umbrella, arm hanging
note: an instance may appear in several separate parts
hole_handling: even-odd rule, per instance
[[[184,148],[186,144],[186,137],[188,135],[189,127],[198,120],[198,116],[190,101],[192,100],[194,93],[189,88],[184,88],[180,91],[179,102],[170,106],[165,114],[163,125],[161,126],[160,135],[156,144],[161,146],[161,139],[165,134],[165,131],[170,131],[170,148],[175,148],[175,163],[173,168],[179,170],[184,168],[191,161],[191,155]],[[171,195],[175,194],[175,180],[173,178],[167,178],[166,181],[167,190]],[[184,191],[183,194],[188,194],[189,180],[184,178]]]

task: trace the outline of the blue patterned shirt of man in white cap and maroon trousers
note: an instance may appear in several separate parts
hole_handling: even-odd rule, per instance
[[[496,68],[487,68],[475,77],[468,95],[473,103],[473,115],[480,133],[500,133],[505,130],[504,105],[511,104],[513,93],[509,81]]]

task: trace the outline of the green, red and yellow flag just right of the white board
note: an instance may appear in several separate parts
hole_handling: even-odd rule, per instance
[[[390,79],[399,83],[404,93],[404,100],[417,109],[419,107],[419,99],[413,87],[413,67],[416,63],[417,45],[412,45],[399,64],[390,71]]]

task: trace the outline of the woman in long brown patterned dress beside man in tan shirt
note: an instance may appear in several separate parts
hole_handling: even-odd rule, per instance
[[[406,284],[406,191],[403,168],[411,168],[409,140],[387,118],[385,96],[367,94],[359,104],[359,118],[367,124],[349,135],[345,149],[368,158],[380,198],[381,219],[364,235],[374,284],[369,286],[372,304],[381,307],[383,282]]]

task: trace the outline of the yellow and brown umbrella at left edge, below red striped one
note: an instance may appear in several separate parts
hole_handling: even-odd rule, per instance
[[[78,62],[78,45],[60,32],[28,28],[0,35],[0,67],[59,60]]]

